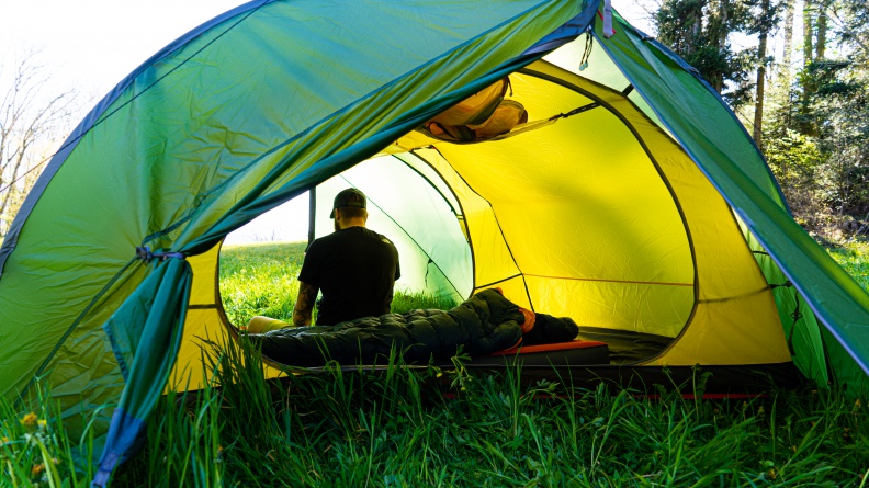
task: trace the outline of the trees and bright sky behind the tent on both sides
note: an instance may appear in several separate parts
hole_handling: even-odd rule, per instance
[[[865,0],[613,3],[634,21],[642,16],[642,29],[723,95],[813,237],[826,245],[869,237]],[[0,242],[53,152],[94,103],[55,82],[41,63],[38,52],[24,50],[0,66]]]

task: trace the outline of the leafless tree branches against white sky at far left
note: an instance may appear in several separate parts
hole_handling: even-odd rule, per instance
[[[24,195],[49,159],[58,139],[66,137],[76,111],[74,90],[48,93],[50,76],[27,52],[11,72],[0,66],[0,240],[9,231]]]

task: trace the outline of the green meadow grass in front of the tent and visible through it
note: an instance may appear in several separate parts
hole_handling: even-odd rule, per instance
[[[229,319],[289,318],[304,245],[227,248]],[[869,288],[869,246],[830,250]],[[395,311],[447,308],[397,295]],[[205,351],[222,386],[163,397],[148,443],[113,487],[869,486],[867,398],[806,386],[754,398],[686,399],[602,386],[522,384],[520,370],[405,367],[268,382],[244,341]],[[222,367],[216,367],[216,366]],[[702,391],[708,373],[698,372]],[[46,386],[47,388],[47,386]],[[0,486],[84,487],[56,408],[0,402]]]

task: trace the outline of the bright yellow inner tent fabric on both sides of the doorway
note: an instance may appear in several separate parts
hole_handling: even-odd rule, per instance
[[[730,206],[630,92],[546,60],[510,82],[508,98],[531,118],[515,134],[452,144],[414,132],[384,150],[433,169],[458,202],[473,291],[498,286],[582,326],[675,339],[640,366],[790,362],[770,287]],[[187,387],[202,384],[198,338],[219,337],[226,322],[217,259],[218,248],[190,259],[176,365]]]

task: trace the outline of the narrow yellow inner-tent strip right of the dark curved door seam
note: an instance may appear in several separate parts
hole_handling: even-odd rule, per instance
[[[689,227],[697,265],[698,309],[682,332],[681,339],[675,342],[670,351],[690,348],[691,338],[710,336],[703,330],[704,328],[730,330],[732,327],[734,337],[743,337],[746,340],[755,330],[761,330],[767,334],[765,340],[772,344],[765,344],[754,350],[746,347],[754,355],[741,360],[743,364],[788,361],[789,354],[787,359],[781,360],[785,358],[781,351],[787,353],[788,350],[775,302],[753,298],[771,296],[771,294],[736,220],[732,218],[726,202],[681,148],[629,100],[608,97],[605,90],[588,83],[583,88],[606,100],[606,103],[618,111],[625,123],[630,124],[642,138],[678,197]],[[740,307],[751,310],[744,320],[711,315],[713,311],[729,309],[738,314],[743,310]],[[708,321],[712,319],[719,322]],[[726,340],[724,337],[720,339]],[[685,340],[688,342],[682,344]],[[767,358],[763,355],[764,348],[770,350]],[[693,350],[691,354],[696,355],[692,360],[688,356],[678,356],[675,352],[669,352],[666,356],[670,362],[679,358],[679,361],[689,361],[687,364],[713,364],[710,361],[714,361],[716,355],[710,354],[707,358],[704,353],[700,354],[700,351],[702,348]]]

